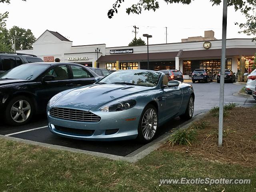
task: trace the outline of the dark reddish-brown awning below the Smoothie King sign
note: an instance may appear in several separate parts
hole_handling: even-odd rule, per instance
[[[175,59],[178,52],[159,52],[159,53],[150,53],[150,60],[166,60],[166,59]],[[115,55],[106,55],[101,56],[98,59],[98,62],[110,62],[110,61],[139,61],[139,60],[147,60],[147,53],[140,54],[115,54]]]

